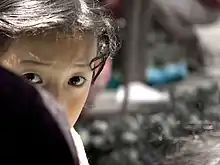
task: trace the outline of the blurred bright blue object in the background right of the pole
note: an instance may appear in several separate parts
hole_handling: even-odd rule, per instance
[[[161,68],[147,68],[146,79],[150,85],[163,85],[182,80],[188,76],[186,62],[168,64]]]

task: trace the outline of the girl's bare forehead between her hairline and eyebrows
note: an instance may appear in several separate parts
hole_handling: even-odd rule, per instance
[[[97,40],[86,33],[23,37],[12,41],[8,53],[21,60],[89,63],[96,56]]]

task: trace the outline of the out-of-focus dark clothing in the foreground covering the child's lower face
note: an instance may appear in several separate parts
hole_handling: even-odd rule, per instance
[[[41,97],[3,68],[0,116],[0,165],[78,164],[67,120],[55,100],[45,92]]]

